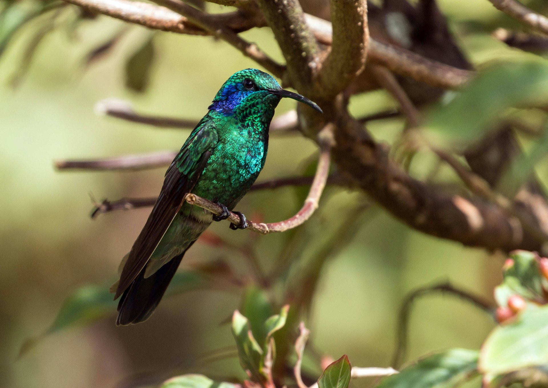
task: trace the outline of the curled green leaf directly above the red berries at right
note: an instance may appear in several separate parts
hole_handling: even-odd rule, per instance
[[[495,288],[496,303],[506,306],[508,298],[516,294],[525,300],[543,300],[543,276],[537,255],[526,250],[515,250],[510,258],[513,264],[505,266],[504,281]]]

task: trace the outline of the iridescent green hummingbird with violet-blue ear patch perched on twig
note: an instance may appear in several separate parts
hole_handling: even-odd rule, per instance
[[[167,169],[152,212],[122,259],[120,278],[111,287],[114,299],[120,298],[117,325],[150,317],[187,249],[246,195],[265,164],[270,122],[284,97],[322,112],[257,69],[238,71],[222,85]],[[190,192],[218,203],[222,214],[184,202]],[[231,229],[246,228],[246,216],[234,213],[240,225],[230,224]]]

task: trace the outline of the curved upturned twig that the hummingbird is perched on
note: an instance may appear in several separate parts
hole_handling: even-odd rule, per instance
[[[314,176],[314,180],[312,181],[312,186],[310,187],[309,194],[306,197],[305,203],[299,210],[299,212],[287,220],[272,222],[270,224],[258,224],[253,221],[247,221],[247,229],[253,232],[262,233],[264,235],[266,235],[266,233],[272,232],[284,232],[286,230],[293,229],[294,227],[301,225],[303,222],[310,218],[310,216],[315,212],[318,207],[319,198],[321,197],[323,189],[327,183],[327,177],[329,174],[329,163],[331,159],[330,151],[333,146],[333,129],[334,125],[329,123],[318,134],[318,142],[320,145],[318,167],[316,169],[316,175]],[[194,195],[192,193],[187,194],[186,202],[190,203],[191,205],[199,206],[201,208],[209,210],[209,212],[215,215],[222,214],[222,208],[218,204],[208,201],[207,199],[204,199],[202,197],[198,197],[197,195]],[[227,220],[229,220],[230,222],[232,222],[232,224],[236,226],[240,225],[240,219],[235,213],[229,212],[229,218],[227,218]]]

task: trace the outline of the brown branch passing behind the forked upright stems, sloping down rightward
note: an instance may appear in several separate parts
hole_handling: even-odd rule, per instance
[[[305,14],[306,22],[319,42],[331,44],[331,23]],[[436,62],[409,50],[369,39],[369,59],[388,67],[398,75],[411,77],[443,89],[458,89],[469,81],[473,72]]]

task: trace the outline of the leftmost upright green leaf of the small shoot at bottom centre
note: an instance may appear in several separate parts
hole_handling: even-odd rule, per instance
[[[254,381],[263,381],[260,373],[262,349],[253,337],[249,321],[238,310],[232,316],[232,335],[236,340],[239,362]]]

